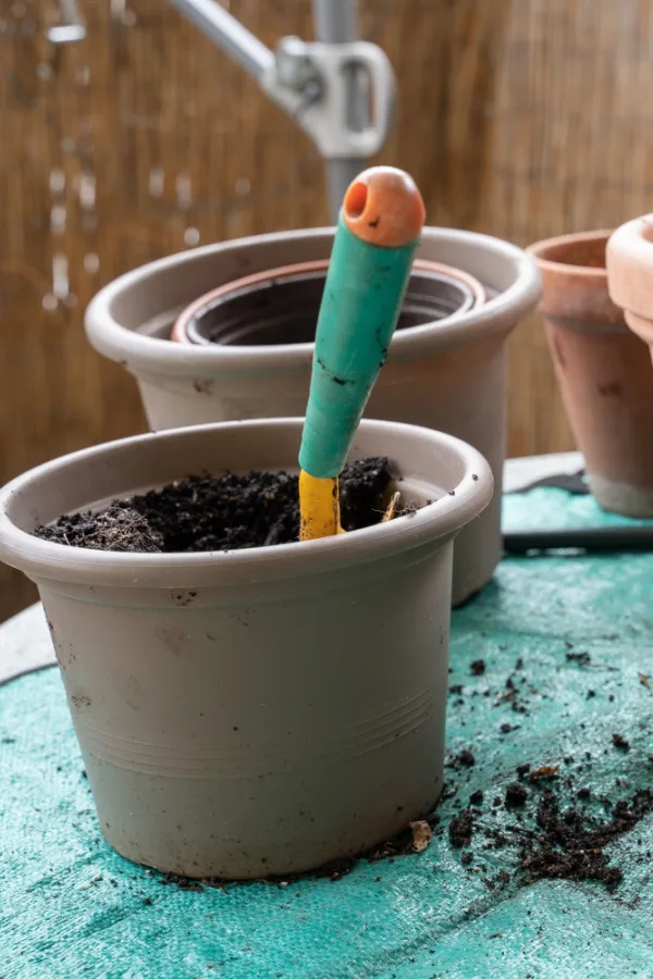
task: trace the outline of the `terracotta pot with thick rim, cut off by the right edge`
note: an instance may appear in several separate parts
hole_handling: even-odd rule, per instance
[[[628,221],[607,243],[609,295],[653,359],[653,214]],[[653,392],[651,392],[653,397]]]

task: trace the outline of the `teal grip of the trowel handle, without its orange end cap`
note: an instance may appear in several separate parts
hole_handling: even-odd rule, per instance
[[[318,479],[345,464],[397,323],[417,241],[380,248],[338,221],[318,318],[310,394],[299,450]]]

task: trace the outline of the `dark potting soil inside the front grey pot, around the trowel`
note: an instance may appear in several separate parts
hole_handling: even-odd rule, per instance
[[[340,479],[341,520],[354,531],[379,523],[392,473],[385,458],[361,459]],[[100,512],[64,515],[37,537],[94,550],[184,554],[289,544],[299,536],[297,476],[250,472],[190,475]]]

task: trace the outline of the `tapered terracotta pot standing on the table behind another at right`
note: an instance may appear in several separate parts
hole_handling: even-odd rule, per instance
[[[611,300],[609,232],[531,246],[544,285],[540,310],[590,488],[606,510],[653,516],[653,369]]]

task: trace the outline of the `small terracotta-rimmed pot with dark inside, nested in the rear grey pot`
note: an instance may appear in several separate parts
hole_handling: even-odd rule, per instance
[[[176,343],[312,343],[329,260],[270,269],[219,286],[192,302],[176,319]],[[438,262],[416,261],[397,330],[456,315],[485,301],[480,282]]]

